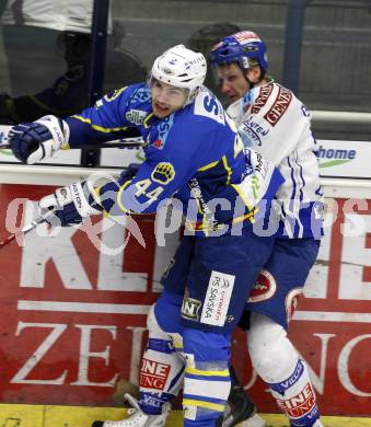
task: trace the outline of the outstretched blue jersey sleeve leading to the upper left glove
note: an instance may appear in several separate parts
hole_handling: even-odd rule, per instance
[[[119,138],[138,136],[132,124],[125,118],[130,97],[138,85],[127,86],[104,95],[93,107],[67,117],[69,126],[69,147],[105,142]]]

